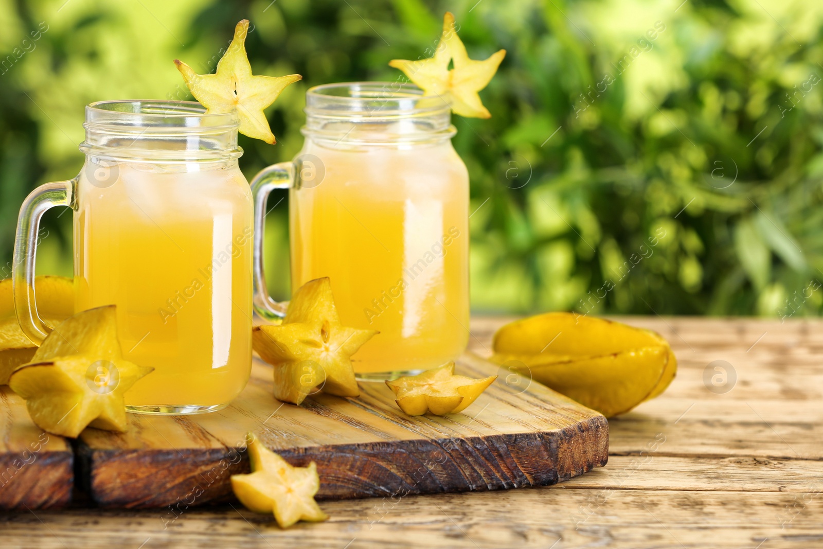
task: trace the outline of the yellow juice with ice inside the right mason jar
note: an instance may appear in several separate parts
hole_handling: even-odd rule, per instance
[[[361,374],[457,358],[468,333],[468,175],[451,143],[324,147],[323,178],[291,191],[291,281],[330,277],[342,323],[379,330]],[[319,178],[318,178],[319,179]]]

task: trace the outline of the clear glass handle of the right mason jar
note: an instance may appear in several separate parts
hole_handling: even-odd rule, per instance
[[[266,226],[266,203],[269,193],[275,188],[290,188],[295,180],[295,165],[280,162],[270,165],[252,179],[254,197],[254,310],[266,320],[281,319],[286,316],[288,301],[278,302],[268,295],[266,273],[263,269],[263,230]]]

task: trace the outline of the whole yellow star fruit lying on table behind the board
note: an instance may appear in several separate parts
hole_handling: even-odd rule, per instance
[[[677,372],[658,333],[574,313],[546,313],[495,333],[492,361],[522,370],[611,417],[657,397]]]

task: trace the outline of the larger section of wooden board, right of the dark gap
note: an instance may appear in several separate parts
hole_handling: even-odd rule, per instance
[[[497,371],[477,357],[458,363],[472,377]],[[101,506],[171,507],[173,518],[230,498],[230,475],[249,470],[240,451],[249,431],[293,464],[317,463],[319,500],[546,486],[607,461],[606,419],[537,383],[503,376],[465,413],[444,417],[406,416],[385,384],[360,387],[359,398],[282,404],[271,366],[255,361],[249,386],[221,412],[133,415],[122,435],[86,429],[82,476]]]

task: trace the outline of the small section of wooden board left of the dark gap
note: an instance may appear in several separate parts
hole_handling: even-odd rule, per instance
[[[72,448],[35,426],[26,401],[0,387],[0,509],[67,505],[74,486]]]

